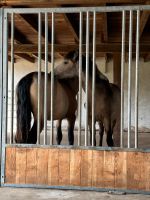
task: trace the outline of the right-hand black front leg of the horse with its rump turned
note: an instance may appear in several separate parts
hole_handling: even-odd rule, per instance
[[[68,141],[69,145],[74,144],[74,124],[76,120],[76,116],[72,116],[71,118],[67,118],[68,120]]]

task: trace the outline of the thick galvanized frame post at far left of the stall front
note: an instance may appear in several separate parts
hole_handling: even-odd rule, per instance
[[[4,12],[3,28],[3,119],[2,119],[2,161],[1,183],[5,181],[5,145],[7,142],[7,108],[8,108],[8,16]]]

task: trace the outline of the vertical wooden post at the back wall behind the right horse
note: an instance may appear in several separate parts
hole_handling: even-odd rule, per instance
[[[113,54],[113,80],[121,87],[121,54]]]

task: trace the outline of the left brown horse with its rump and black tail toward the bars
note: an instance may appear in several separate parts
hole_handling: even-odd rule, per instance
[[[44,76],[41,72],[40,84],[40,132],[44,126]],[[47,120],[50,120],[51,105],[51,74],[47,81]],[[54,120],[67,119],[69,144],[74,144],[74,124],[76,120],[75,111],[77,109],[76,94],[78,92],[78,79],[61,79],[54,76]],[[24,76],[17,84],[17,131],[15,135],[16,143],[35,144],[37,142],[37,113],[38,113],[38,72],[31,72]],[[34,118],[31,127],[31,113]],[[57,123],[57,144],[61,143],[62,131]]]

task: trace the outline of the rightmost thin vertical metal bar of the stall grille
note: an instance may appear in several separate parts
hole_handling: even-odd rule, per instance
[[[135,72],[135,148],[138,148],[138,95],[139,95],[139,28],[140,10],[137,10],[136,22],[136,72]]]

